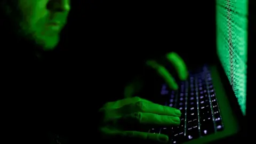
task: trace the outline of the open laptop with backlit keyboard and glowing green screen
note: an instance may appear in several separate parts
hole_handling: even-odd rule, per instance
[[[249,0],[216,1],[216,62],[189,71],[172,91],[163,84],[161,103],[181,110],[180,125],[150,129],[170,143],[236,142],[246,116]],[[233,140],[233,141],[232,141]],[[223,141],[222,141],[223,142]]]

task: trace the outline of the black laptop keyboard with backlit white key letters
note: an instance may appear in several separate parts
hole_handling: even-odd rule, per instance
[[[203,67],[190,73],[178,91],[169,91],[164,84],[161,91],[163,105],[181,110],[180,125],[150,129],[151,133],[169,135],[171,143],[183,143],[223,130],[219,105],[213,89],[209,69]]]

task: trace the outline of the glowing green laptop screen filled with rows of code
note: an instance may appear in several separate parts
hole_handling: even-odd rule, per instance
[[[248,0],[216,2],[217,54],[245,115]]]

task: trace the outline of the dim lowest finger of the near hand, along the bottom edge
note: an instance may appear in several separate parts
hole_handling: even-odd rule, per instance
[[[147,132],[138,132],[138,131],[124,131],[123,135],[131,139],[140,139],[146,141],[155,141],[155,142],[168,142],[169,138],[164,134],[154,134]]]

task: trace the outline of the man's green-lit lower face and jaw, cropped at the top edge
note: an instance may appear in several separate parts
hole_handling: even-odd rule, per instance
[[[52,50],[67,22],[70,0],[2,0],[2,10],[15,35]]]

